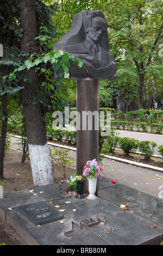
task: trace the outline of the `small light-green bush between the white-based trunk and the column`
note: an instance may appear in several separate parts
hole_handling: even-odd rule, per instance
[[[55,148],[52,154],[52,165],[53,169],[58,170],[66,179],[66,176],[70,173],[68,169],[72,163],[74,163],[74,157],[69,155],[69,150],[64,148]]]

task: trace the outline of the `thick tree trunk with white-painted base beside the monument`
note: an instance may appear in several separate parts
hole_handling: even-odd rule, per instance
[[[20,0],[20,17],[23,29],[21,50],[32,54],[37,46],[36,0]],[[32,81],[23,82],[22,101],[33,182],[35,186],[48,185],[52,184],[54,179],[41,105],[37,102],[37,74],[34,68],[30,68],[24,71],[24,75]]]

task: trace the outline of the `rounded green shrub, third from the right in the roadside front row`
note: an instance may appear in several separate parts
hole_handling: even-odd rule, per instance
[[[118,145],[126,155],[135,153],[135,149],[137,149],[137,143],[137,139],[134,138],[118,137]]]

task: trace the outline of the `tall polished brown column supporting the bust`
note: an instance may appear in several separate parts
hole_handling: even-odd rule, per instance
[[[99,80],[77,79],[77,173],[83,174],[88,160],[98,161],[99,138]],[[88,192],[88,181],[84,181],[84,193]],[[96,195],[98,196],[98,184]]]

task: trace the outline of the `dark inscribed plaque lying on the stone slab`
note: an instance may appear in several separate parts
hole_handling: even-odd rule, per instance
[[[41,225],[64,218],[57,210],[45,202],[18,206],[18,210],[35,225]]]

